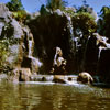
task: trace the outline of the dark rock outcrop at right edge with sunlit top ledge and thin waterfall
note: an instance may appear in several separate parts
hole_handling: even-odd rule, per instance
[[[110,82],[110,44],[106,36],[98,33],[88,41],[85,68],[91,75],[98,75],[100,81]]]

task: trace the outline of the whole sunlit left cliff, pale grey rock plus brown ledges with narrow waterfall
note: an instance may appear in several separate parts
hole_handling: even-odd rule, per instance
[[[7,64],[9,68],[22,68],[24,57],[32,61],[26,63],[32,73],[37,73],[38,62],[33,57],[34,38],[30,29],[12,18],[4,4],[0,4],[0,38],[9,40]],[[37,59],[36,59],[37,61]],[[31,66],[29,66],[31,65]],[[37,68],[37,69],[36,69]]]

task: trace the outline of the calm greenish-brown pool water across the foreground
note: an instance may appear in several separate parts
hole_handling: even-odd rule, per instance
[[[0,110],[110,110],[110,89],[0,82]]]

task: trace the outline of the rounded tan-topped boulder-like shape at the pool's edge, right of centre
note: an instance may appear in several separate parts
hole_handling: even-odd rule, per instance
[[[79,75],[77,77],[77,81],[80,81],[84,84],[92,84],[94,78],[89,73],[82,72],[82,73],[79,73]]]

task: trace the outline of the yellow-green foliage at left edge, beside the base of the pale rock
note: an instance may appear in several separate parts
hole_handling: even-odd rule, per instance
[[[0,40],[0,70],[4,68],[6,58],[8,57],[9,40]]]

